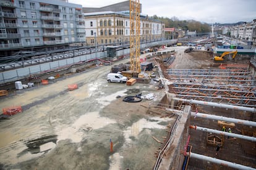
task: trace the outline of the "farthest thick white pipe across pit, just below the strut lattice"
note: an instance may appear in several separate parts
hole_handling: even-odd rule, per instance
[[[230,109],[234,109],[234,110],[242,110],[242,111],[249,111],[252,113],[256,113],[256,108],[254,108],[254,107],[240,107],[240,106],[236,106],[236,105],[227,105],[227,104],[215,103],[215,102],[204,102],[204,101],[193,100],[193,99],[179,99],[176,97],[174,97],[173,100],[178,100],[178,101],[187,102],[187,103],[195,103],[198,105],[209,105],[212,107],[230,108]]]

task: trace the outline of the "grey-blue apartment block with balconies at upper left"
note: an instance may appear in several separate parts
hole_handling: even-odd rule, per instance
[[[56,49],[85,42],[82,6],[56,0],[1,0],[0,51]]]

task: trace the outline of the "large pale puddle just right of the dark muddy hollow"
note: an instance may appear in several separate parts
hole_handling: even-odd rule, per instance
[[[83,137],[93,129],[100,129],[108,124],[116,123],[112,119],[101,117],[98,112],[90,112],[80,116],[70,127],[59,128],[56,134],[58,134],[58,141],[70,139],[74,143],[81,142]]]

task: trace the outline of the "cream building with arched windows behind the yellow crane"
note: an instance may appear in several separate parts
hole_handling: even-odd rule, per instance
[[[130,17],[127,12],[85,13],[86,44],[123,44],[130,41]],[[140,42],[164,38],[164,23],[140,14]]]

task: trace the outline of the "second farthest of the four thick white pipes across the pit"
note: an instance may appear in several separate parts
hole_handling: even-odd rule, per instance
[[[205,113],[195,113],[195,112],[191,112],[191,116],[195,116],[195,117],[199,117],[199,118],[215,119],[215,120],[226,121],[226,122],[230,122],[230,123],[237,123],[237,124],[243,124],[246,126],[256,127],[255,121],[247,121],[247,120],[242,120],[242,119],[228,118],[228,117],[223,117],[223,116],[216,116],[216,115],[209,115],[209,114],[205,114]]]

